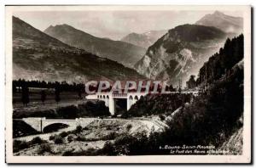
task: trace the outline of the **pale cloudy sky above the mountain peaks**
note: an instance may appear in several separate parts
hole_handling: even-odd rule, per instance
[[[131,32],[168,30],[177,25],[194,24],[214,11],[47,11],[16,12],[14,15],[44,31],[49,25],[67,24],[94,36],[119,40]],[[239,12],[222,11],[241,16]]]

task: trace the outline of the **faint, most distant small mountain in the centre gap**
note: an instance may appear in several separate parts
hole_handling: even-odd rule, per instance
[[[154,42],[157,41],[161,36],[164,36],[166,32],[167,31],[148,31],[142,34],[130,33],[127,36],[124,36],[121,41],[129,42],[142,48],[148,48],[154,44]]]

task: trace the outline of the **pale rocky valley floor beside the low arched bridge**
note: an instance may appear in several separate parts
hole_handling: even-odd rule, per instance
[[[122,134],[135,135],[137,132],[146,132],[149,135],[153,130],[154,132],[161,132],[165,125],[160,120],[143,120],[143,118],[132,120],[95,119],[85,126],[79,134],[72,132],[75,130],[74,127],[68,127],[58,132],[18,137],[15,140],[28,142],[34,137],[40,137],[47,141],[49,148],[51,148],[51,152],[46,151],[43,155],[63,155],[68,152],[83,152],[90,148],[103,148],[105,143],[113,141],[114,138],[122,136]],[[55,144],[54,140],[49,140],[50,136],[60,134],[61,132],[68,132],[67,137],[63,138],[63,143]],[[73,139],[71,142],[68,140],[70,137]],[[41,148],[41,144],[34,144],[29,148],[21,149],[15,155],[42,155],[39,152],[42,150]]]

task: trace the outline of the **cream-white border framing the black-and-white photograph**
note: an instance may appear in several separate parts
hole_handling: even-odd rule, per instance
[[[14,10],[239,10],[244,11],[245,111],[243,154],[164,156],[13,156],[12,154],[12,12]],[[248,163],[251,160],[251,10],[250,6],[15,6],[6,7],[6,151],[8,163]]]

